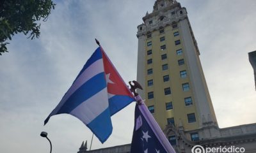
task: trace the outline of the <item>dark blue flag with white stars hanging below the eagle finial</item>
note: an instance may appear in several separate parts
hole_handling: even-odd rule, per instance
[[[141,99],[136,96],[136,100]],[[175,153],[156,120],[141,100],[136,104],[131,153]]]

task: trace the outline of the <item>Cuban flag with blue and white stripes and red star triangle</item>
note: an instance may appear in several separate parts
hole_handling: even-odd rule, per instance
[[[104,143],[113,129],[111,115],[134,100],[124,80],[99,47],[44,124],[52,115],[68,113],[81,120]]]

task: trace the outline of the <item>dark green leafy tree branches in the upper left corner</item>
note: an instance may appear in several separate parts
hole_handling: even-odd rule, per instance
[[[8,52],[8,40],[17,33],[29,34],[33,40],[40,36],[40,21],[46,21],[51,9],[51,0],[1,0],[0,1],[0,55]]]

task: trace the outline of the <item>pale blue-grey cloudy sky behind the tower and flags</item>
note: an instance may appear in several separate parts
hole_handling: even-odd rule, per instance
[[[256,122],[256,92],[248,52],[256,50],[255,0],[180,0],[200,59],[220,128]],[[45,118],[60,102],[97,38],[125,82],[136,79],[137,25],[154,0],[55,1],[39,39],[18,34],[0,56],[0,152],[77,152],[92,132],[71,115]],[[112,117],[113,134],[92,149],[131,143],[134,103]]]

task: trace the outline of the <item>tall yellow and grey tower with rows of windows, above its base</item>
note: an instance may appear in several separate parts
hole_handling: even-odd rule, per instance
[[[184,131],[218,123],[200,63],[188,12],[175,0],[157,0],[138,25],[140,95],[161,129]]]

